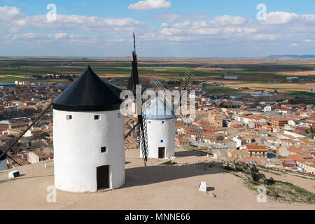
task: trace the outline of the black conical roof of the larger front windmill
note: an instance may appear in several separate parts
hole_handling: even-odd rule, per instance
[[[113,111],[120,108],[121,89],[106,82],[90,66],[52,102],[59,111]]]

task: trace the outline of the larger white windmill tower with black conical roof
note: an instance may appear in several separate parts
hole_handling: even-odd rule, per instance
[[[120,89],[90,66],[52,104],[55,187],[69,192],[125,183],[124,117]]]

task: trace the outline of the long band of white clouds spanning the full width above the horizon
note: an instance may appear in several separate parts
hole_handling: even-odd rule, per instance
[[[168,52],[175,52],[168,46],[188,43],[203,45],[201,51],[210,45],[221,47],[222,51],[237,48],[275,51],[277,46],[284,50],[307,46],[305,49],[311,50],[315,43],[313,14],[272,12],[263,22],[231,15],[209,19],[197,13],[172,12],[153,15],[153,18],[164,21],[160,22],[160,27],[148,27],[134,18],[57,15],[57,20],[50,22],[45,15],[26,15],[20,8],[3,6],[0,7],[0,33],[3,34],[0,35],[0,48],[15,48],[19,43],[38,49],[41,49],[39,43],[52,43],[65,49],[73,45],[88,45],[94,49],[112,45],[113,49],[118,49],[117,54],[125,54],[117,46],[132,44],[132,31],[137,33],[139,48],[148,45],[152,49],[157,46],[162,49],[167,45]]]

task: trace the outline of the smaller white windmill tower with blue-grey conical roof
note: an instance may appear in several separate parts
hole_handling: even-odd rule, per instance
[[[170,158],[175,154],[175,116],[171,107],[156,99],[146,109],[148,158]],[[142,157],[142,151],[140,151]]]

